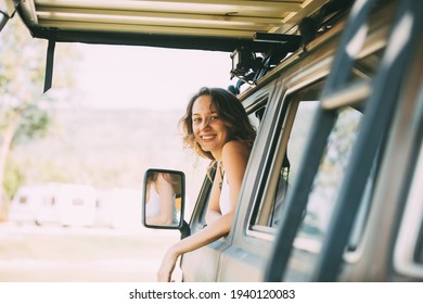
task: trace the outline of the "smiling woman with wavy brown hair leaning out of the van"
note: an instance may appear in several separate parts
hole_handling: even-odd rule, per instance
[[[245,109],[228,90],[202,88],[188,103],[181,119],[184,142],[198,155],[218,164],[207,208],[207,227],[183,238],[166,252],[158,281],[170,281],[178,257],[222,236],[232,225],[238,197],[256,136]]]

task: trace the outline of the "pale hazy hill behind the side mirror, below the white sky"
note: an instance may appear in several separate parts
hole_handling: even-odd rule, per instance
[[[159,167],[183,170],[189,191],[197,191],[207,162],[182,149],[177,128],[182,115],[176,110],[56,110],[49,135],[16,147],[13,156],[27,183],[139,188],[145,169]]]

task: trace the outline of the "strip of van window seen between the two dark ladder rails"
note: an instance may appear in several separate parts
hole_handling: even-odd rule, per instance
[[[341,109],[329,136],[323,157],[309,193],[307,208],[287,264],[292,281],[307,280],[300,274],[312,274],[323,238],[329,228],[336,195],[359,132],[362,113],[352,107]],[[371,186],[371,185],[370,185]],[[366,200],[366,198],[363,198]],[[366,200],[367,201],[367,200]],[[357,240],[355,241],[357,243]]]

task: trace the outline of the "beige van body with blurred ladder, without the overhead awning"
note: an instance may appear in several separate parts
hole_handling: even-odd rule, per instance
[[[258,134],[235,219],[183,281],[423,279],[422,5],[400,2],[357,1],[239,96]]]

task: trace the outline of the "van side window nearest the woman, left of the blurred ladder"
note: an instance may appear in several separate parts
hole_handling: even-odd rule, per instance
[[[311,123],[319,105],[318,101],[310,98],[317,96],[317,90],[313,92],[315,94],[311,96],[304,92],[297,93],[286,99],[289,104],[286,114],[280,118],[283,119],[283,124],[277,123],[275,125],[281,126],[277,127],[273,132],[278,144],[273,160],[269,160],[273,163],[272,174],[265,174],[269,175],[262,180],[266,194],[253,208],[249,231],[275,233],[284,199],[298,170]]]

